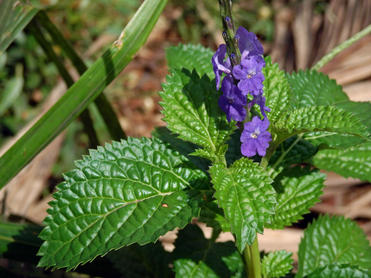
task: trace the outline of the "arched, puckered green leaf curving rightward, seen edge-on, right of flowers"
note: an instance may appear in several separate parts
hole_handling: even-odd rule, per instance
[[[290,136],[310,131],[339,132],[356,135],[362,138],[369,133],[360,119],[353,113],[335,106],[301,107],[282,117],[271,128],[277,136],[274,140],[283,140]]]

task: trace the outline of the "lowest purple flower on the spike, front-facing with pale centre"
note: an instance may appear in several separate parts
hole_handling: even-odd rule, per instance
[[[266,149],[269,147],[269,141],[272,140],[269,131],[269,120],[260,120],[255,116],[251,122],[245,123],[241,133],[241,153],[247,157],[256,155],[265,156]]]

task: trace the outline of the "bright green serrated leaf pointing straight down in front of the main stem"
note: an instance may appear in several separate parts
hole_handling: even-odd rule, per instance
[[[270,215],[275,213],[272,180],[264,168],[247,158],[229,168],[219,163],[209,173],[216,190],[214,198],[219,199],[219,207],[230,221],[237,248],[242,252],[246,243],[252,245],[256,232],[263,234],[264,222],[270,223]]]

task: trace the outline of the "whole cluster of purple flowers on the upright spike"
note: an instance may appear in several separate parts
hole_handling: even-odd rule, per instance
[[[226,22],[228,22],[227,19]],[[223,36],[226,36],[225,32],[223,32]],[[270,109],[265,106],[265,97],[263,96],[262,82],[265,79],[262,73],[262,68],[265,67],[265,61],[262,57],[263,46],[254,33],[248,32],[243,27],[237,29],[234,39],[238,42],[241,53],[239,64],[236,64],[235,54],[227,56],[226,44],[220,44],[211,59],[217,89],[219,89],[221,75],[223,72],[226,74],[221,82],[223,95],[219,98],[219,106],[226,113],[228,122],[231,119],[242,122],[246,118],[246,106],[250,110],[253,105],[259,105],[264,119],[261,120],[256,116],[251,122],[244,124],[241,134],[241,142],[243,142],[241,152],[246,156],[253,156],[256,153],[264,156],[271,136],[266,131],[269,126],[266,112],[269,112]],[[235,65],[232,66],[232,64]],[[247,103],[247,95],[252,96],[249,103]]]

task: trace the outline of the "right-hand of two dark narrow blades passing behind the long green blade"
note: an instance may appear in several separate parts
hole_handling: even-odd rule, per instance
[[[60,31],[56,28],[52,21],[50,21],[46,13],[44,11],[39,11],[39,13],[36,14],[36,19],[41,24],[41,26],[43,26],[47,30],[53,41],[59,44],[59,46],[71,60],[73,66],[75,66],[79,74],[82,75],[86,71],[86,69],[88,69],[88,67],[86,67],[83,60],[73,49],[73,46],[63,37],[62,33],[60,33]],[[116,141],[127,139],[127,136],[124,130],[122,130],[117,116],[112,109],[111,104],[104,95],[104,92],[98,95],[94,102],[99,110],[99,113],[101,113],[102,118],[104,119],[104,122],[108,128],[108,132],[111,135],[112,139]]]

